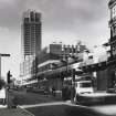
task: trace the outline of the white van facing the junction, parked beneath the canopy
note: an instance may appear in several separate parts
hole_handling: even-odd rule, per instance
[[[93,93],[92,81],[75,82],[76,94]]]

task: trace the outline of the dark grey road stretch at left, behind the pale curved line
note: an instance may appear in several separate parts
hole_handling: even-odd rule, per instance
[[[51,95],[41,95],[31,92],[12,91],[11,94],[15,96],[17,104],[21,106],[62,101],[61,98]]]

